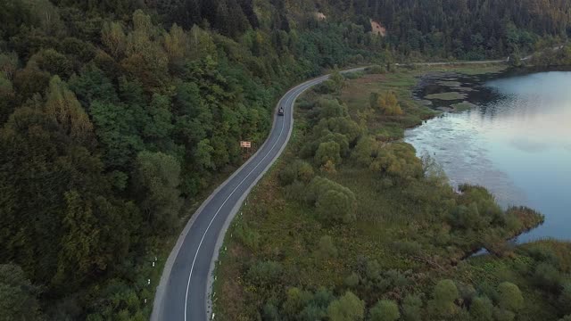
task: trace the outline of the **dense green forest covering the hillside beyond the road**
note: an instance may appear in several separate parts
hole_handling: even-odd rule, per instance
[[[0,21],[0,319],[127,320],[183,204],[264,140],[285,88],[558,43],[569,4],[0,0]]]

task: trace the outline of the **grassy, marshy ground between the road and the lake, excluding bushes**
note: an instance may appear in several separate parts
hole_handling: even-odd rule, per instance
[[[372,316],[378,300],[390,300],[401,311],[402,319],[410,319],[406,317],[410,308],[407,298],[413,296],[418,296],[418,313],[421,312],[425,319],[469,318],[472,306],[468,299],[471,301],[484,296],[491,298],[495,307],[490,309],[498,315],[519,312],[517,316],[524,320],[530,319],[527,312],[534,313],[531,319],[538,316],[540,310],[545,311],[541,315],[546,319],[563,313],[559,308],[547,309],[549,302],[537,296],[525,277],[504,277],[498,268],[514,259],[529,258],[525,249],[512,249],[503,240],[539,224],[541,217],[532,210],[514,208],[502,214],[509,218],[507,223],[498,218],[503,223],[490,223],[481,230],[466,228],[463,224],[468,223],[463,220],[468,218],[463,216],[468,215],[468,210],[464,214],[461,211],[470,206],[478,206],[482,212],[486,209],[496,211],[490,202],[491,195],[476,186],[466,186],[462,195],[454,193],[439,176],[442,173],[426,175],[426,167],[414,151],[410,155],[410,150],[404,146],[406,144],[399,142],[405,128],[417,126],[436,114],[421,106],[411,95],[418,75],[426,70],[476,73],[468,67],[451,69],[439,66],[350,77],[352,79],[346,81],[346,86],[335,93],[313,91],[298,101],[290,144],[259,185],[254,187],[248,205],[243,207],[228,229],[223,246],[225,251],[220,252],[215,270],[217,281],[213,304],[216,319],[273,319],[276,316],[281,316],[277,319],[299,319],[310,306],[314,312],[317,311],[315,316],[333,319],[331,314],[335,311],[332,312],[330,306],[344,300],[347,294],[343,296],[343,293],[347,292],[355,292],[358,300],[363,300],[363,316],[369,313]],[[485,70],[494,72],[497,67]],[[403,114],[390,116],[371,110],[368,107],[371,91],[393,92]],[[332,101],[346,106],[343,109]],[[327,104],[330,106],[325,107]],[[359,165],[360,161],[353,155],[364,143],[356,137],[348,144],[350,151],[333,168],[328,162],[321,166],[314,163],[319,159],[319,151],[313,157],[300,157],[307,153],[305,150],[308,150],[306,146],[311,144],[310,141],[319,136],[314,128],[323,126],[318,119],[328,112],[343,115],[347,124],[351,121],[358,124],[361,138],[365,135],[371,138],[379,153],[389,150],[390,154],[386,156],[396,162],[389,166],[380,164],[380,168],[385,166],[386,169],[372,172],[371,169],[375,168],[372,164]],[[337,121],[339,117],[335,119]],[[328,130],[331,129],[329,127]],[[343,133],[352,135],[351,130]],[[378,157],[375,161],[383,160]],[[313,180],[297,177],[293,183],[284,184],[284,173],[300,161],[311,164]],[[391,166],[399,163],[403,164],[403,169],[399,169],[402,173],[410,169],[412,174],[391,174]],[[418,174],[413,173],[418,165],[423,167],[424,174],[414,177]],[[398,171],[395,169],[395,172]],[[344,217],[337,220],[324,218],[327,210],[320,210],[319,201],[308,203],[305,200],[304,194],[311,193],[314,188],[314,177],[324,177],[333,182],[331,184],[352,192],[355,199],[352,209],[356,218],[351,223],[344,223]],[[341,187],[332,188],[344,191]],[[473,205],[475,202],[477,205]],[[329,210],[335,211],[335,208]],[[483,245],[501,257],[463,260],[467,253]],[[568,243],[557,243],[557,246],[568,247]],[[571,259],[565,253],[559,253],[559,256],[561,261]],[[528,269],[539,264],[534,259],[525,262]],[[492,270],[493,277],[483,279],[481,271],[487,271],[487,268]],[[567,277],[568,269],[559,267],[558,271],[561,280]],[[453,280],[462,295],[466,288],[473,291],[468,291],[471,293],[467,294],[469,298],[452,300],[451,309],[442,312],[434,308],[435,293],[431,294],[431,291],[434,284],[448,279]],[[497,295],[500,290],[496,288],[506,281],[519,285],[524,297],[531,300],[532,304],[520,308],[524,309],[523,312],[501,308],[501,298]],[[315,299],[310,299],[311,296],[323,291],[330,297],[325,306],[308,303]],[[294,309],[290,306],[294,298],[305,303],[298,302]],[[307,307],[303,307],[304,304]]]

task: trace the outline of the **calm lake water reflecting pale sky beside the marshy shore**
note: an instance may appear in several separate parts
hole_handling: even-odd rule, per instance
[[[439,161],[452,185],[484,185],[504,207],[541,211],[545,223],[518,242],[571,239],[571,72],[501,76],[479,85],[445,77],[441,84],[459,81],[476,89],[463,101],[477,107],[427,120],[405,140]],[[417,95],[457,89],[429,82]]]

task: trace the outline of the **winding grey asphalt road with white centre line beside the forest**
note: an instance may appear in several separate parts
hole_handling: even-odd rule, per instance
[[[266,142],[194,212],[165,263],[155,293],[152,321],[208,320],[212,270],[228,225],[253,185],[284,150],[294,125],[295,99],[327,78],[329,75],[308,80],[290,89],[279,100],[277,106],[284,106],[285,116],[274,113]]]

